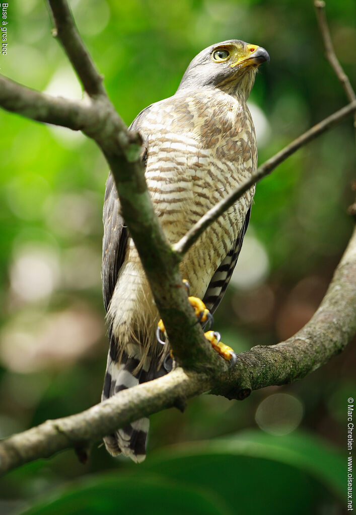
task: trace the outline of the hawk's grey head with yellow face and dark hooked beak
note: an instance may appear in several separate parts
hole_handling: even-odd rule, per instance
[[[267,50],[232,39],[202,50],[189,64],[179,90],[219,88],[248,98],[258,66],[268,61]]]

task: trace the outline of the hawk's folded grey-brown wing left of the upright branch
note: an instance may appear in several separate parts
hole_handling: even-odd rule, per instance
[[[143,109],[136,116],[128,130],[139,131],[140,121],[150,107]],[[120,214],[120,202],[111,172],[106,181],[103,224],[102,288],[105,310],[107,311],[112,294],[114,294],[119,270],[125,259],[128,238],[128,231]]]

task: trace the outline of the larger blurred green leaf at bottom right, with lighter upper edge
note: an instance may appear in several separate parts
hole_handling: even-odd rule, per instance
[[[340,497],[344,493],[342,458],[319,439],[296,432],[272,436],[250,431],[176,445],[143,467],[218,491],[234,512],[244,515],[314,512],[330,490]]]

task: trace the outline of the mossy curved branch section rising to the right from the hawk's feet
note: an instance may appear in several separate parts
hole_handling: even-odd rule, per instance
[[[356,333],[356,228],[318,310],[294,336],[238,355],[229,374],[231,390],[216,393],[241,398],[251,390],[289,384],[342,352]],[[243,378],[243,382],[241,379]]]

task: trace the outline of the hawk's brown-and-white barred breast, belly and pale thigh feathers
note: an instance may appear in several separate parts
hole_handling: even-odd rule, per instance
[[[177,93],[146,109],[136,125],[133,129],[141,133],[148,147],[145,177],[154,209],[172,244],[255,170],[250,114],[246,105],[226,93],[204,90],[184,98]],[[190,280],[194,295],[204,295],[232,248],[252,196],[253,188],[204,232],[183,259],[181,272]],[[120,328],[125,324],[142,328],[142,321],[151,328],[158,315],[133,242],[119,279],[109,310],[115,333],[123,333]],[[124,286],[127,281],[135,283],[130,292]],[[146,349],[150,345],[150,341],[143,342]]]

